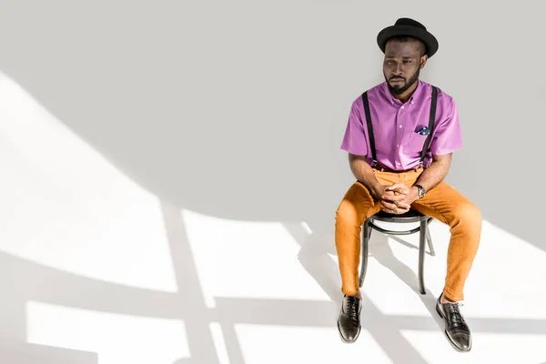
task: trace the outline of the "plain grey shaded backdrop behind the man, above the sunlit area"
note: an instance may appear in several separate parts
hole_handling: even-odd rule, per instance
[[[0,5],[0,71],[139,184],[207,215],[325,232],[353,181],[349,107],[382,81],[376,35],[414,17],[440,40],[421,77],[460,110],[448,182],[546,249],[541,2]]]

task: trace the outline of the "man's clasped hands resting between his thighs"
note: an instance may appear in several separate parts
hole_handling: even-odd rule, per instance
[[[401,183],[380,185],[374,194],[381,202],[383,211],[396,215],[410,211],[411,204],[419,197],[417,187],[408,187]]]

